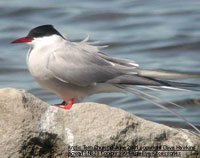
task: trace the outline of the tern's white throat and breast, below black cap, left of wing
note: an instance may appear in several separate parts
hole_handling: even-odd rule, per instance
[[[27,65],[32,76],[38,80],[51,77],[47,69],[49,55],[60,45],[62,38],[57,35],[36,38],[30,42],[31,49],[27,55]]]

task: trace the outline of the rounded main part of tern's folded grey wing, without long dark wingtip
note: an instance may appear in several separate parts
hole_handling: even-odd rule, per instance
[[[133,69],[112,62],[114,58],[109,59],[71,44],[51,53],[47,68],[57,79],[79,86],[106,82]]]

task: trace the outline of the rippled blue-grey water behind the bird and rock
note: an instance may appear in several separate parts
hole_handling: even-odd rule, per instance
[[[28,46],[10,44],[42,24],[53,24],[71,41],[89,35],[92,41],[109,45],[102,50],[104,53],[134,60],[143,68],[200,73],[197,0],[1,0],[0,10],[0,87],[26,89],[49,104],[61,100],[42,90],[27,71]],[[199,79],[186,81],[200,84]],[[153,94],[180,101],[185,109],[169,107],[200,127],[200,104],[188,101],[200,99],[200,93]],[[189,128],[180,119],[132,94],[98,94],[83,101],[106,103],[148,120]]]

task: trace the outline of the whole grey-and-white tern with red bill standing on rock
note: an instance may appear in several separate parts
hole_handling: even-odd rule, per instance
[[[97,46],[89,42],[88,37],[80,42],[71,42],[50,24],[37,26],[27,36],[12,43],[29,45],[26,62],[31,75],[42,88],[63,99],[61,104],[57,104],[63,109],[70,109],[75,100],[95,93],[128,91],[173,113],[200,133],[184,117],[149,99],[160,98],[133,88],[194,90],[200,86],[171,80],[200,77],[199,74],[142,69],[135,61],[102,53],[102,48],[107,46]]]

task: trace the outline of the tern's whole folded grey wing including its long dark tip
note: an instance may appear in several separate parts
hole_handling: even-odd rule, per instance
[[[144,70],[137,68],[137,65],[129,60],[112,58],[103,53],[89,52],[73,44],[54,50],[49,56],[47,68],[55,78],[79,86],[107,82],[110,84],[183,87],[180,84],[175,85],[169,81],[141,75],[140,73]],[[156,72],[156,74],[158,73]],[[191,87],[191,85],[188,86]],[[185,84],[184,87],[186,87]]]

